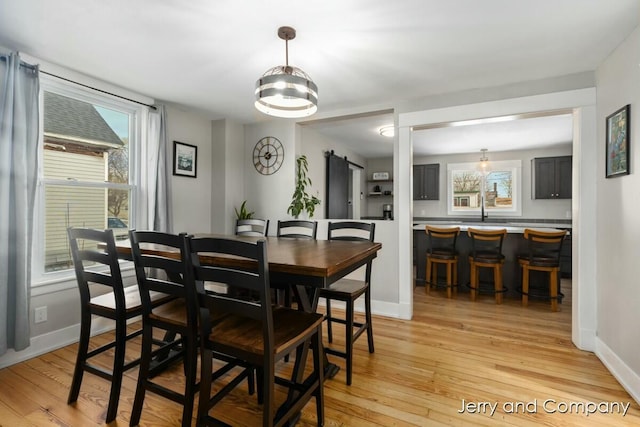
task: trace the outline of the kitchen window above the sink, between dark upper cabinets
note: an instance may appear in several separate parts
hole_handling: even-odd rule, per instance
[[[477,163],[447,165],[449,215],[521,215],[521,161],[494,161],[481,172]]]

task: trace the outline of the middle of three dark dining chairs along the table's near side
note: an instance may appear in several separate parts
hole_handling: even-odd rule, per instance
[[[184,236],[132,230],[129,240],[143,307],[142,360],[129,425],[138,425],[145,394],[152,392],[181,404],[182,426],[191,426],[194,398],[198,391],[198,302],[196,290],[184,283],[187,269],[187,264],[183,262],[186,258]],[[174,251],[175,256],[153,252],[154,247]],[[175,302],[157,309],[149,304],[150,296],[155,292],[171,295]],[[154,332],[164,333],[174,339],[154,348]],[[186,377],[184,390],[178,392],[154,380],[166,365],[180,359],[184,363]],[[162,363],[155,364],[158,360]]]

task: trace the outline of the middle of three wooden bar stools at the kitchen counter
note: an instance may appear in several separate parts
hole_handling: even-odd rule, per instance
[[[502,283],[502,266],[504,265],[502,242],[507,230],[504,228],[478,230],[470,227],[467,229],[467,234],[471,238],[469,255],[471,301],[475,301],[476,294],[480,292],[480,269],[491,268],[493,269],[493,289],[487,289],[487,291],[495,294],[496,304],[502,304],[502,295],[507,291]]]

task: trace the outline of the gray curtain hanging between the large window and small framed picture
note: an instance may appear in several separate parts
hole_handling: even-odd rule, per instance
[[[147,140],[142,144],[142,179],[140,185],[142,220],[140,230],[156,230],[171,233],[170,174],[167,164],[166,113],[163,105],[149,111]]]

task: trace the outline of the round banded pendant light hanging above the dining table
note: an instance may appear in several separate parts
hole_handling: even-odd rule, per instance
[[[285,41],[285,65],[267,70],[256,82],[256,108],[270,116],[307,117],[318,110],[318,87],[298,67],[289,65],[289,40],[296,30],[280,27],[278,37]]]

